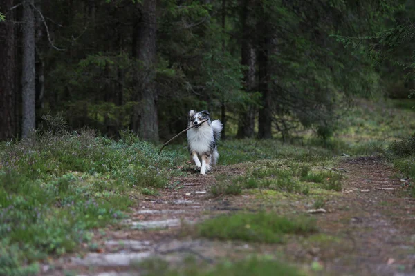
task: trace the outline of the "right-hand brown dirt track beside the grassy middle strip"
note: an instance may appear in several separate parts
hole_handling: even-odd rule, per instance
[[[359,157],[341,164],[347,173],[333,212],[320,218],[326,233],[350,239],[327,268],[349,275],[415,275],[415,201],[385,160]]]

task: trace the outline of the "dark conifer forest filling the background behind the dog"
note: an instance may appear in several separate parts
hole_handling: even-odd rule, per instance
[[[415,1],[0,0],[0,140],[44,124],[149,141],[210,110],[224,137],[333,135],[407,98]]]

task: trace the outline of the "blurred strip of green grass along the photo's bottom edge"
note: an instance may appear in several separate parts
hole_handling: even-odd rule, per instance
[[[268,257],[248,257],[239,262],[221,262],[215,266],[198,264],[193,259],[170,267],[163,259],[152,259],[136,265],[145,276],[301,276],[297,268]]]

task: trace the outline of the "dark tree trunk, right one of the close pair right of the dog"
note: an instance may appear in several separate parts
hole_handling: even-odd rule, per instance
[[[259,109],[258,119],[258,138],[259,139],[270,139],[273,137],[272,134],[272,97],[268,87],[270,76],[268,75],[268,52],[270,48],[270,31],[267,28],[266,19],[263,17],[258,24],[258,30],[261,32],[259,37],[258,47],[258,76],[259,85],[258,89],[262,95],[262,107]]]

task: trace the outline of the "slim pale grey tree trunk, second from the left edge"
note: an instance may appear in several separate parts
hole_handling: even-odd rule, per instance
[[[26,138],[35,130],[35,12],[34,0],[23,4],[23,70],[21,93],[23,117],[21,137]]]

